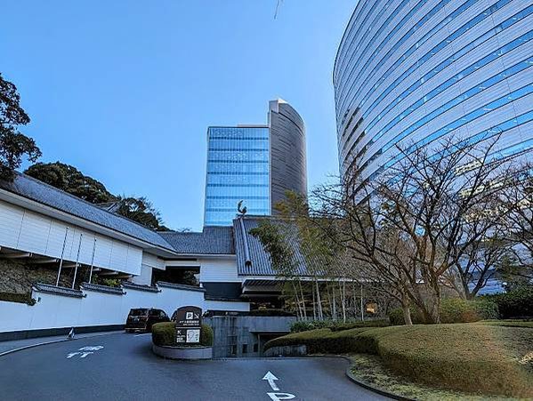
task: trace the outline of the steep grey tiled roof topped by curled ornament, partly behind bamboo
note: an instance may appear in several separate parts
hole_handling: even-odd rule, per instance
[[[300,251],[296,236],[291,236],[290,223],[261,216],[246,216],[233,221],[233,231],[235,237],[235,250],[237,253],[238,274],[243,276],[277,276],[278,273],[272,267],[271,256],[261,244],[261,241],[250,234],[250,230],[259,226],[259,222],[269,219],[273,224],[284,226],[284,231],[288,233],[287,241],[295,251],[296,269],[295,274],[306,276],[307,269],[303,254]],[[289,225],[287,227],[287,225]],[[246,252],[247,245],[247,252]]]

